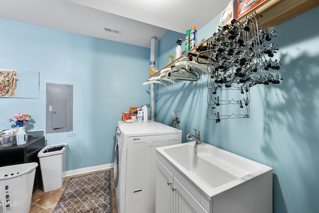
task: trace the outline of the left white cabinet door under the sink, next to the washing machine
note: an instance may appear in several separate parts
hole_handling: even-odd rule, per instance
[[[173,175],[156,160],[156,213],[173,213]]]

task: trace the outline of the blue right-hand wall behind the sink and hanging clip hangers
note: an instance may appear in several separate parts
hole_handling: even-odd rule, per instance
[[[279,45],[284,80],[251,88],[250,118],[207,120],[207,74],[156,88],[156,120],[170,124],[172,111],[180,110],[183,142],[196,128],[202,141],[274,169],[274,213],[319,212],[319,28],[309,21],[318,14],[316,7],[271,29],[279,33],[272,42]],[[198,38],[211,36],[218,20]]]

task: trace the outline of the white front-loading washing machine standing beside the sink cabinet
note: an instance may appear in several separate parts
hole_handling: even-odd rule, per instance
[[[114,183],[118,213],[155,213],[156,148],[181,143],[181,130],[151,121],[118,121]]]

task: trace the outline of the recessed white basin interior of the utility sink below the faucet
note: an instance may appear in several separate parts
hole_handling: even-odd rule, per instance
[[[175,165],[205,188],[216,188],[261,169],[262,165],[206,143],[162,148]]]

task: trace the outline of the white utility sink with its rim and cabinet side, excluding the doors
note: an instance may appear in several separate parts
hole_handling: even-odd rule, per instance
[[[225,207],[241,212],[242,205],[272,212],[273,169],[268,166],[195,141],[157,148],[157,158],[183,185],[194,188],[190,193],[207,212],[224,213]]]

